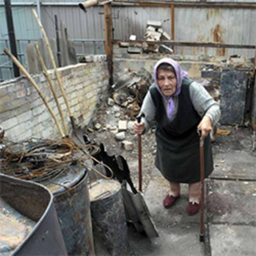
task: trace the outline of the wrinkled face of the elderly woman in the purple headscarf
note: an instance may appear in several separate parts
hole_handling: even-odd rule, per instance
[[[172,96],[177,89],[176,75],[170,70],[158,68],[157,84],[165,96]]]

